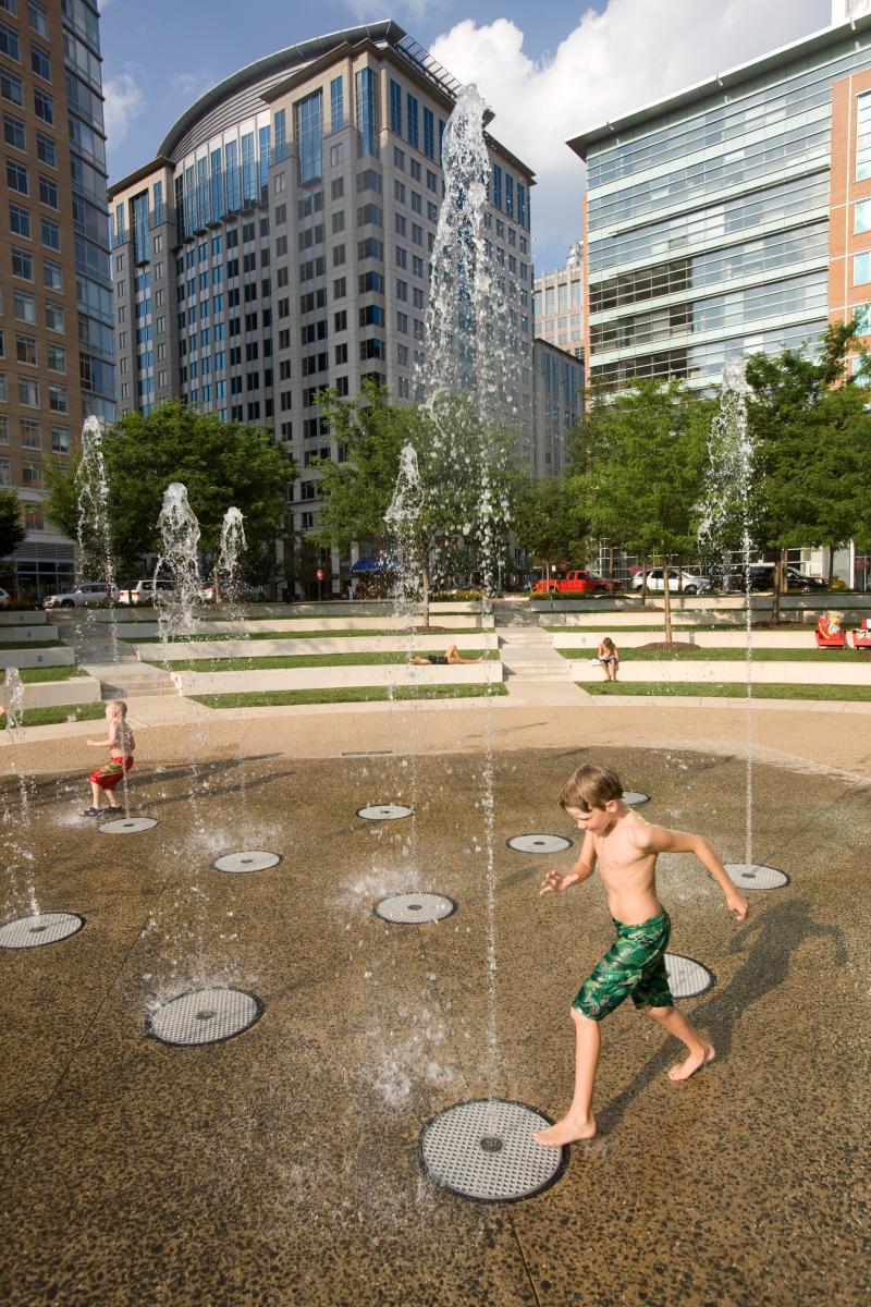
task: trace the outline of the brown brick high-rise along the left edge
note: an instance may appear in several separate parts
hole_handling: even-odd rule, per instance
[[[43,460],[114,418],[112,293],[95,0],[0,0],[0,485],[25,505],[9,565],[21,597],[73,579],[42,510]]]

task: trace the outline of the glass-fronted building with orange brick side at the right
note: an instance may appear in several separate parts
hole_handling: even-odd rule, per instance
[[[870,305],[871,14],[569,145],[589,176],[590,384],[708,387],[729,357]]]

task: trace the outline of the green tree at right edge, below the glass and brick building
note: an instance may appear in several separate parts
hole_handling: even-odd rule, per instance
[[[864,353],[855,322],[829,324],[816,357],[802,348],[747,359],[755,544],[774,554],[774,621],[787,549],[868,538],[871,416],[867,389],[847,375],[851,353]]]

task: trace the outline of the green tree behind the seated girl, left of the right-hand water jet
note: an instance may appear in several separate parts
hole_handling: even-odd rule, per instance
[[[599,537],[661,557],[665,638],[671,642],[669,570],[696,549],[696,511],[712,403],[679,382],[641,379],[598,395],[573,442],[569,486]]]

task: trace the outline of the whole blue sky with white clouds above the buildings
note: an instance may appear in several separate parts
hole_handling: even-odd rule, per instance
[[[831,0],[101,0],[108,169],[153,158],[205,90],[262,55],[394,18],[461,81],[491,131],[538,176],[538,271],[577,239],[584,169],[565,139],[787,44],[831,21]]]

